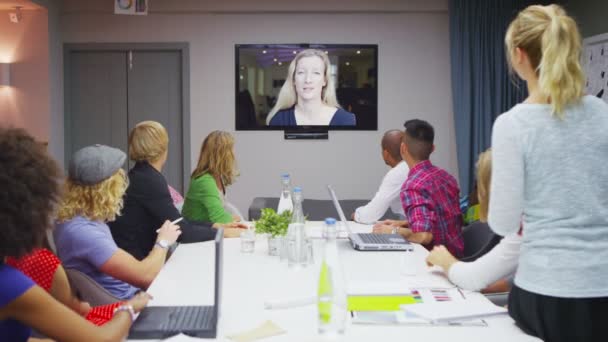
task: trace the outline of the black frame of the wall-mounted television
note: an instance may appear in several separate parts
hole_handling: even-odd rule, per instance
[[[378,44],[311,44],[311,43],[267,43],[267,44],[235,44],[234,45],[234,128],[236,131],[285,131],[285,139],[327,139],[327,134],[319,133],[327,133],[328,131],[377,131],[378,130],[378,110],[376,109],[376,118],[374,120],[373,125],[368,125],[368,127],[352,127],[352,126],[264,126],[264,127],[248,127],[248,128],[239,128],[237,127],[236,115],[238,108],[238,98],[237,94],[239,93],[239,49],[240,48],[273,48],[276,46],[289,46],[296,47],[299,49],[319,49],[324,50],[327,48],[361,48],[361,49],[372,49],[373,50],[373,58],[374,64],[376,65],[376,99],[378,99]],[[376,108],[378,107],[378,101],[376,100]],[[295,133],[295,134],[294,134]],[[306,133],[310,133],[311,137],[307,137]],[[289,137],[288,137],[289,135]]]

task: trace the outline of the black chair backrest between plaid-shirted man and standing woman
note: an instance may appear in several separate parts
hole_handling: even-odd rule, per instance
[[[496,235],[487,223],[475,221],[462,229],[464,257],[462,261],[474,261],[489,252],[501,237]]]

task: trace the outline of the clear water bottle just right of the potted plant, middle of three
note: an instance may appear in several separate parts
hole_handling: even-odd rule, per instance
[[[293,188],[293,212],[287,228],[287,265],[303,267],[308,264],[309,246],[304,230],[304,211],[302,210],[302,189]]]

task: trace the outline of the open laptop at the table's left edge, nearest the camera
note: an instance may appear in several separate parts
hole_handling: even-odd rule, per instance
[[[164,339],[182,333],[215,338],[222,288],[222,242],[224,230],[215,234],[215,298],[213,306],[148,306],[129,331],[129,339]],[[183,260],[186,261],[186,260]]]

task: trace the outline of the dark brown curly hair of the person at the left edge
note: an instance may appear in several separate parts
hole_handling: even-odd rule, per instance
[[[44,146],[25,130],[0,127],[0,260],[42,246],[62,177]]]

